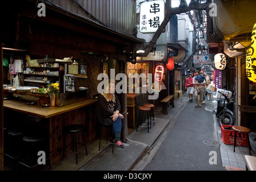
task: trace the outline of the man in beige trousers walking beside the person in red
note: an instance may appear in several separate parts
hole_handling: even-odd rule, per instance
[[[199,90],[199,93],[198,93],[198,90],[197,89],[194,89],[195,90],[195,107],[202,107],[202,102],[203,102],[203,94],[205,94],[204,90],[205,90],[205,84],[206,84],[206,81],[203,80],[203,82],[199,83],[197,81],[197,79],[195,79],[197,76],[198,76],[198,73],[199,71],[196,70],[195,71],[195,76],[193,78],[193,84],[194,85],[197,85],[197,88]],[[198,97],[199,97],[199,101],[198,101]]]

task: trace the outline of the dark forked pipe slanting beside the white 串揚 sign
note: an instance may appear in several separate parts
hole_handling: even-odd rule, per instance
[[[190,3],[190,5],[186,6],[186,7],[171,8],[171,0],[166,0],[166,7],[167,8],[166,8],[165,19],[163,19],[163,22],[158,27],[158,29],[155,32],[153,38],[150,40],[149,44],[147,44],[147,47],[144,50],[144,52],[143,53],[136,53],[137,57],[147,57],[147,55],[149,55],[149,52],[153,48],[154,44],[157,42],[157,39],[162,34],[163,29],[165,29],[167,23],[170,21],[171,15],[186,13],[187,11],[194,10],[194,9],[195,10],[205,10],[206,9],[206,3],[203,3],[203,4]]]

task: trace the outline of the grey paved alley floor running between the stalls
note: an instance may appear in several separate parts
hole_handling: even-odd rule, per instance
[[[182,100],[187,99],[187,94]],[[221,127],[213,114],[217,99],[206,100],[202,107],[195,102],[187,103],[173,128],[147,162],[145,171],[240,171],[246,170],[244,155],[249,155],[249,147],[223,143]],[[251,133],[251,155],[255,156],[255,133]],[[216,155],[216,163],[211,156]],[[146,161],[144,161],[146,162]]]

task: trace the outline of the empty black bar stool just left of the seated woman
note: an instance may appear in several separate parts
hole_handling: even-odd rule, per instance
[[[67,133],[71,134],[72,137],[72,149],[73,151],[66,151],[66,135]],[[82,138],[83,138],[83,143],[78,143],[77,142],[77,134],[82,133]],[[77,144],[82,144],[83,147],[77,151]],[[79,152],[81,152],[83,150],[83,148],[85,148],[86,150],[86,155],[87,154],[87,146],[86,146],[86,142],[85,142],[85,134],[83,132],[83,125],[69,125],[66,126],[65,132],[64,132],[64,139],[63,139],[63,150],[62,150],[62,158],[61,160],[63,160],[63,156],[65,152],[70,152],[70,153],[74,153],[75,154],[75,163],[77,164],[77,154]]]

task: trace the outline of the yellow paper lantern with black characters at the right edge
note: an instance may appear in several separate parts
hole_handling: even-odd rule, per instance
[[[256,82],[256,23],[251,36],[251,47],[246,52],[246,76],[249,80]]]

